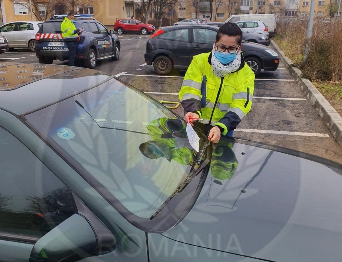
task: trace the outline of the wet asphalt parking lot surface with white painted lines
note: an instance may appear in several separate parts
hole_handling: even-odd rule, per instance
[[[146,65],[144,60],[149,36],[123,35],[119,38],[119,61],[99,61],[96,69],[116,75],[158,101],[179,102],[178,92],[185,71],[157,75],[153,66]],[[14,49],[1,54],[0,61],[38,63],[38,58],[28,50]],[[67,65],[67,61],[55,60],[54,64]],[[181,106],[173,110],[184,115]],[[256,78],[252,110],[238,125],[234,136],[342,163],[341,147],[282,63],[277,71],[262,71]]]

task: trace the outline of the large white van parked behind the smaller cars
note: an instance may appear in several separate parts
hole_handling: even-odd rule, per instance
[[[238,21],[262,21],[268,27],[269,36],[276,35],[276,17],[274,14],[246,14],[246,15],[232,15],[229,17],[226,22],[238,22]]]

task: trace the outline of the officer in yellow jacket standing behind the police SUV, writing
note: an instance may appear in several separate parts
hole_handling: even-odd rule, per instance
[[[78,35],[79,33],[82,33],[80,32],[82,28],[76,29],[74,20],[74,14],[69,13],[67,17],[64,18],[61,24],[62,36],[69,49],[69,66],[75,65]]]

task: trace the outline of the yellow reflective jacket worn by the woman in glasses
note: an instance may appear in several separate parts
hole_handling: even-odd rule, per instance
[[[214,75],[211,68],[212,53],[194,56],[179,92],[186,112],[196,112],[204,124],[220,126],[226,135],[251,110],[255,75],[241,55],[237,71],[223,78]],[[206,107],[201,105],[201,84],[206,76]]]

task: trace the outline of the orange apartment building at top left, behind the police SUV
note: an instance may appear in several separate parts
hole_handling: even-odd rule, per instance
[[[62,5],[61,1],[56,1],[54,5],[54,0],[31,0],[32,20],[42,20],[45,17],[49,19],[54,14],[68,13],[72,9],[71,2],[65,0]],[[75,6],[74,13],[92,14],[98,21],[111,28],[117,19],[139,19],[140,13],[137,9],[140,3],[141,0],[84,0],[83,5]],[[0,0],[0,7],[0,24],[31,20],[29,0]]]

